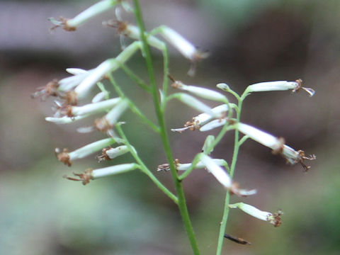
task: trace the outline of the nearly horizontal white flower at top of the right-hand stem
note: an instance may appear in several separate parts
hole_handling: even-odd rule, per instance
[[[292,89],[293,92],[300,91],[300,89],[305,90],[310,96],[315,94],[315,91],[310,88],[302,87],[302,79],[297,79],[296,81],[267,81],[260,82],[257,84],[249,85],[246,88],[247,92],[259,92],[259,91],[285,91]]]

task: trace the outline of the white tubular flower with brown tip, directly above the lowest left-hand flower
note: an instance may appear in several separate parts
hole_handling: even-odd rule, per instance
[[[60,160],[60,162],[71,166],[73,160],[87,157],[94,152],[98,152],[98,150],[112,145],[114,142],[115,140],[112,138],[106,138],[92,142],[91,144],[85,145],[84,147],[76,149],[73,152],[67,152],[67,149],[64,149],[63,152],[60,152],[60,149],[55,149],[55,152],[57,153],[57,158]]]

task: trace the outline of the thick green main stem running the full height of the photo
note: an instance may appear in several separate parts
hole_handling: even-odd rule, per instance
[[[142,39],[142,47],[143,47],[143,51],[145,53],[145,62],[147,64],[147,72],[149,74],[149,81],[150,81],[150,85],[152,87],[152,97],[153,97],[153,101],[154,101],[154,108],[157,114],[157,119],[159,122],[159,128],[161,130],[160,132],[160,136],[162,138],[162,143],[163,143],[163,147],[164,150],[166,152],[166,158],[169,162],[169,166],[171,169],[171,176],[174,179],[174,183],[175,183],[175,188],[176,188],[176,193],[177,193],[177,198],[179,199],[179,211],[181,213],[181,217],[183,220],[183,224],[184,227],[186,229],[186,232],[188,234],[188,239],[191,243],[191,247],[193,249],[193,254],[200,254],[199,250],[198,250],[198,245],[196,242],[196,237],[195,234],[193,232],[193,227],[191,225],[191,220],[188,214],[188,208],[186,206],[186,198],[184,196],[184,192],[183,192],[183,186],[181,181],[179,181],[178,176],[177,176],[177,171],[174,165],[174,157],[172,156],[172,152],[171,152],[171,147],[169,144],[169,138],[168,135],[166,133],[166,126],[165,126],[165,120],[164,120],[164,115],[162,113],[162,108],[159,104],[159,98],[158,98],[158,89],[156,86],[156,81],[154,78],[154,70],[152,67],[152,57],[150,54],[150,50],[149,50],[149,46],[147,45],[147,38],[145,37],[145,27],[144,27],[144,23],[142,20],[142,13],[140,11],[140,4],[138,0],[134,0],[134,4],[135,4],[135,17],[137,20],[137,24],[138,27],[140,28],[140,38]],[[168,69],[168,67],[166,67],[166,69]]]

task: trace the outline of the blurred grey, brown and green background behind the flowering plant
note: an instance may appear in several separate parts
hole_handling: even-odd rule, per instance
[[[55,30],[49,17],[73,17],[94,1],[0,1],[0,254],[191,254],[179,212],[147,176],[138,172],[93,181],[87,186],[62,179],[116,162],[98,164],[95,155],[72,168],[55,159],[55,147],[76,149],[104,137],[79,134],[85,123],[53,125],[52,100],[30,94],[51,79],[67,77],[67,67],[91,69],[120,52],[119,37],[94,18],[76,32]],[[312,168],[288,166],[266,147],[248,141],[239,153],[234,179],[257,188],[251,198],[232,197],[262,210],[282,209],[283,224],[274,228],[238,210],[231,211],[226,232],[252,243],[225,240],[223,254],[339,254],[339,56],[340,1],[318,0],[141,0],[148,29],[171,26],[210,57],[196,77],[170,47],[171,74],[187,84],[214,88],[226,82],[241,93],[259,81],[305,81],[312,97],[289,91],[253,94],[242,121],[285,137],[288,145],[317,154]],[[133,17],[124,14],[133,22]],[[126,41],[127,43],[129,40]],[[154,51],[162,76],[162,58]],[[142,57],[128,63],[147,80]],[[160,68],[159,68],[160,67]],[[150,100],[132,81],[116,72],[126,94],[154,119]],[[210,103],[211,106],[215,106]],[[179,128],[197,113],[172,102],[170,128]],[[154,174],[173,190],[159,139],[127,113],[125,131]],[[211,132],[214,134],[215,132]],[[171,134],[174,155],[190,162],[200,152],[205,133]],[[213,152],[228,161],[230,133]],[[215,254],[225,193],[204,170],[184,182],[188,207],[202,254]]]

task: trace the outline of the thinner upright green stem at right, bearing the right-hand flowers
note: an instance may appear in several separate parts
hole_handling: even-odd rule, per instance
[[[241,111],[242,111],[242,101],[243,98],[239,97],[237,95],[237,99],[239,101],[238,104],[238,111],[237,111],[237,123],[239,123],[239,119],[241,117]],[[244,142],[244,141],[243,141]],[[242,145],[242,142],[239,141],[239,130],[235,128],[235,137],[234,137],[234,153],[232,154],[232,164],[230,165],[230,177],[232,178],[234,176],[235,166],[237,162],[237,156],[239,154],[239,147]],[[224,241],[224,235],[225,235],[225,227],[227,227],[227,220],[229,215],[229,201],[230,201],[230,194],[229,191],[227,191],[225,195],[225,205],[223,208],[223,216],[222,216],[222,222],[220,225],[220,233],[218,234],[218,242],[217,242],[217,251],[216,255],[220,255],[222,252],[222,245]]]

